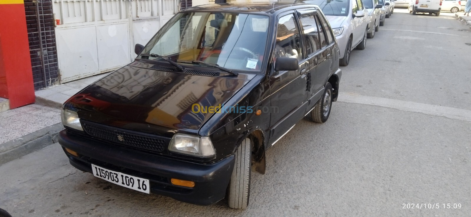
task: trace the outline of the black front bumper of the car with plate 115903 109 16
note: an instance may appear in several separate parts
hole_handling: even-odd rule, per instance
[[[79,154],[66,152],[70,164],[92,173],[91,163],[150,181],[150,192],[196,205],[211,205],[223,199],[234,167],[234,155],[214,164],[199,164],[143,153],[121,146],[74,135],[59,133],[59,144]],[[172,185],[171,178],[195,182],[195,187]]]

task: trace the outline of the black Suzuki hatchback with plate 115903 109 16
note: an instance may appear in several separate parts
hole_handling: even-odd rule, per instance
[[[266,150],[306,115],[327,121],[339,91],[315,5],[187,8],[135,52],[65,102],[59,143],[77,169],[198,205],[244,209]]]

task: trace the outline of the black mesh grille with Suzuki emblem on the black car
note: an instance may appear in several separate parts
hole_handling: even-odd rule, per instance
[[[153,152],[162,152],[170,138],[138,131],[115,128],[91,121],[80,120],[83,129],[90,136]]]

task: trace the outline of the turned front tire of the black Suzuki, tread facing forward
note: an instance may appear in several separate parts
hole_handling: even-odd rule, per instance
[[[232,170],[227,204],[233,209],[245,209],[249,205],[252,141],[245,138],[235,152],[234,169]]]

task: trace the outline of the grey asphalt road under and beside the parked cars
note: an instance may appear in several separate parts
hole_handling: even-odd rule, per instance
[[[14,217],[469,217],[470,29],[451,14],[400,12],[352,52],[329,121],[301,120],[267,151],[245,210],[107,183],[70,166],[58,144],[0,166],[0,207]]]

